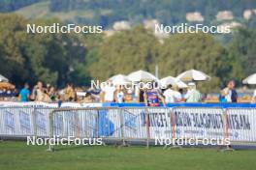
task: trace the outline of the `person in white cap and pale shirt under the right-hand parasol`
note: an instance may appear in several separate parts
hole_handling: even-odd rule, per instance
[[[201,101],[201,94],[196,88],[196,84],[194,82],[188,83],[188,91],[185,95],[186,102],[199,102]]]

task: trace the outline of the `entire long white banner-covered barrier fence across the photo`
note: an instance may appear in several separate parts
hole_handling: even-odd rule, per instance
[[[0,107],[0,137],[76,136],[116,141],[229,138],[256,144],[255,108]]]

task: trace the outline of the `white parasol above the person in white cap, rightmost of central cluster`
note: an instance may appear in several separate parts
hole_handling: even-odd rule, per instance
[[[180,73],[176,78],[182,81],[206,81],[210,76],[203,71],[189,70]]]

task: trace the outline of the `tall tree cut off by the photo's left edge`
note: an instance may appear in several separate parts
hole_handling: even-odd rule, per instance
[[[26,59],[22,45],[27,35],[23,31],[25,19],[15,14],[0,14],[0,73],[11,80],[23,81],[29,71],[25,70]]]

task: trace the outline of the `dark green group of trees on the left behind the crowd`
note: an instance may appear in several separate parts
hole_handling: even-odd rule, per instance
[[[0,15],[0,72],[16,83],[43,80],[58,86],[67,81],[81,84],[86,48],[76,35],[27,34],[27,20],[16,14]],[[36,25],[50,25],[59,20],[35,20]],[[77,67],[78,66],[78,67]],[[82,77],[80,77],[82,75]]]

